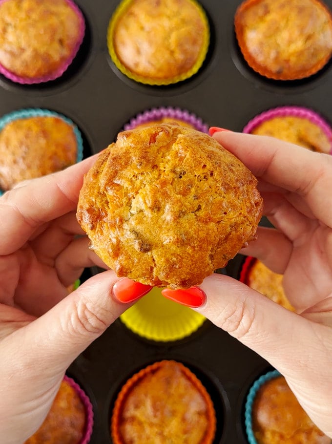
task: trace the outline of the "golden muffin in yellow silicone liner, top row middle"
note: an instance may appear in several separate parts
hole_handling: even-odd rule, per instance
[[[109,22],[107,44],[112,61],[130,79],[169,85],[199,70],[209,25],[195,0],[123,0]]]

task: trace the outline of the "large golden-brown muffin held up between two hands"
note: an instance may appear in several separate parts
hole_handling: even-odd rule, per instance
[[[256,185],[207,134],[166,124],[132,129],[85,175],[77,219],[118,276],[188,288],[256,238]]]

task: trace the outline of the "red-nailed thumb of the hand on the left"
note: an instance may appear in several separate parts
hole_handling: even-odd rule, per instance
[[[127,300],[131,303],[125,304],[115,297],[115,284],[120,280],[128,281],[127,293],[131,292],[132,297]],[[29,350],[25,359],[38,362],[40,374],[44,371],[53,376],[63,372],[93,340],[150,289],[150,286],[130,279],[120,279],[112,270],[105,271],[88,279],[47,313],[13,335],[21,335],[21,349]]]

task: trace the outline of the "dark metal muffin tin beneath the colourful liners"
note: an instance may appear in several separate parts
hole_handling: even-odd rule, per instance
[[[70,118],[83,135],[84,157],[113,142],[137,114],[171,106],[187,110],[209,126],[242,131],[257,114],[276,106],[305,106],[332,123],[327,92],[332,63],[311,78],[273,81],[244,61],[235,39],[233,17],[240,0],[202,0],[211,28],[211,44],[202,68],[191,79],[169,86],[135,83],[110,60],[106,33],[118,5],[115,0],[77,0],[86,31],[73,63],[61,78],[41,85],[19,85],[0,76],[0,116],[21,108],[46,108]],[[332,9],[332,0],[326,0]],[[263,219],[262,224],[268,225]],[[239,278],[243,256],[219,270]],[[82,281],[98,273],[86,269]],[[222,297],[222,295],[221,295]],[[187,338],[156,342],[139,337],[118,319],[68,368],[90,398],[94,410],[91,444],[111,444],[110,415],[117,393],[139,369],[175,359],[192,370],[207,388],[216,409],[215,444],[248,444],[244,404],[252,382],[269,363],[206,320]]]

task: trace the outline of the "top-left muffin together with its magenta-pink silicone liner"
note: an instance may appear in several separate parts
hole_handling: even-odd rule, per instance
[[[0,73],[12,82],[32,85],[49,82],[61,77],[73,62],[83,42],[85,21],[76,3],[71,0],[48,1],[52,9],[48,11],[48,16],[45,16],[48,7],[45,2],[0,0],[0,34],[2,35],[2,38],[0,36],[0,62],[3,59],[6,60],[5,64],[0,63]],[[58,3],[59,9],[57,9]],[[64,27],[61,27],[63,24],[61,23],[63,11],[60,10],[62,3],[65,8],[69,6],[74,13],[71,17],[69,15],[64,17],[64,20],[67,19],[71,22],[68,23],[67,36],[63,37],[58,36],[58,33],[64,30]],[[41,17],[36,17],[39,8],[41,9]],[[58,16],[56,16],[57,12],[59,12]],[[4,16],[3,21],[1,19],[2,15]],[[14,24],[16,27],[14,30],[12,28],[8,30],[6,22],[12,21],[13,18],[15,18]],[[58,42],[54,40],[56,37]],[[68,37],[67,40],[66,37]],[[19,41],[21,39],[23,42],[29,42],[27,49],[23,50],[21,43],[16,48],[15,38],[18,38]],[[42,38],[44,41],[41,41],[41,44],[45,45],[43,51],[38,47],[38,39]],[[52,43],[54,47],[52,47]],[[66,44],[68,44],[68,55],[64,57],[61,54],[64,52]],[[6,46],[10,50],[7,51]],[[12,55],[13,51],[15,57]],[[55,52],[58,54],[54,54]],[[38,61],[38,69],[36,68],[36,61]],[[27,71],[29,71],[29,75],[27,75]],[[26,73],[26,75],[22,73]]]

